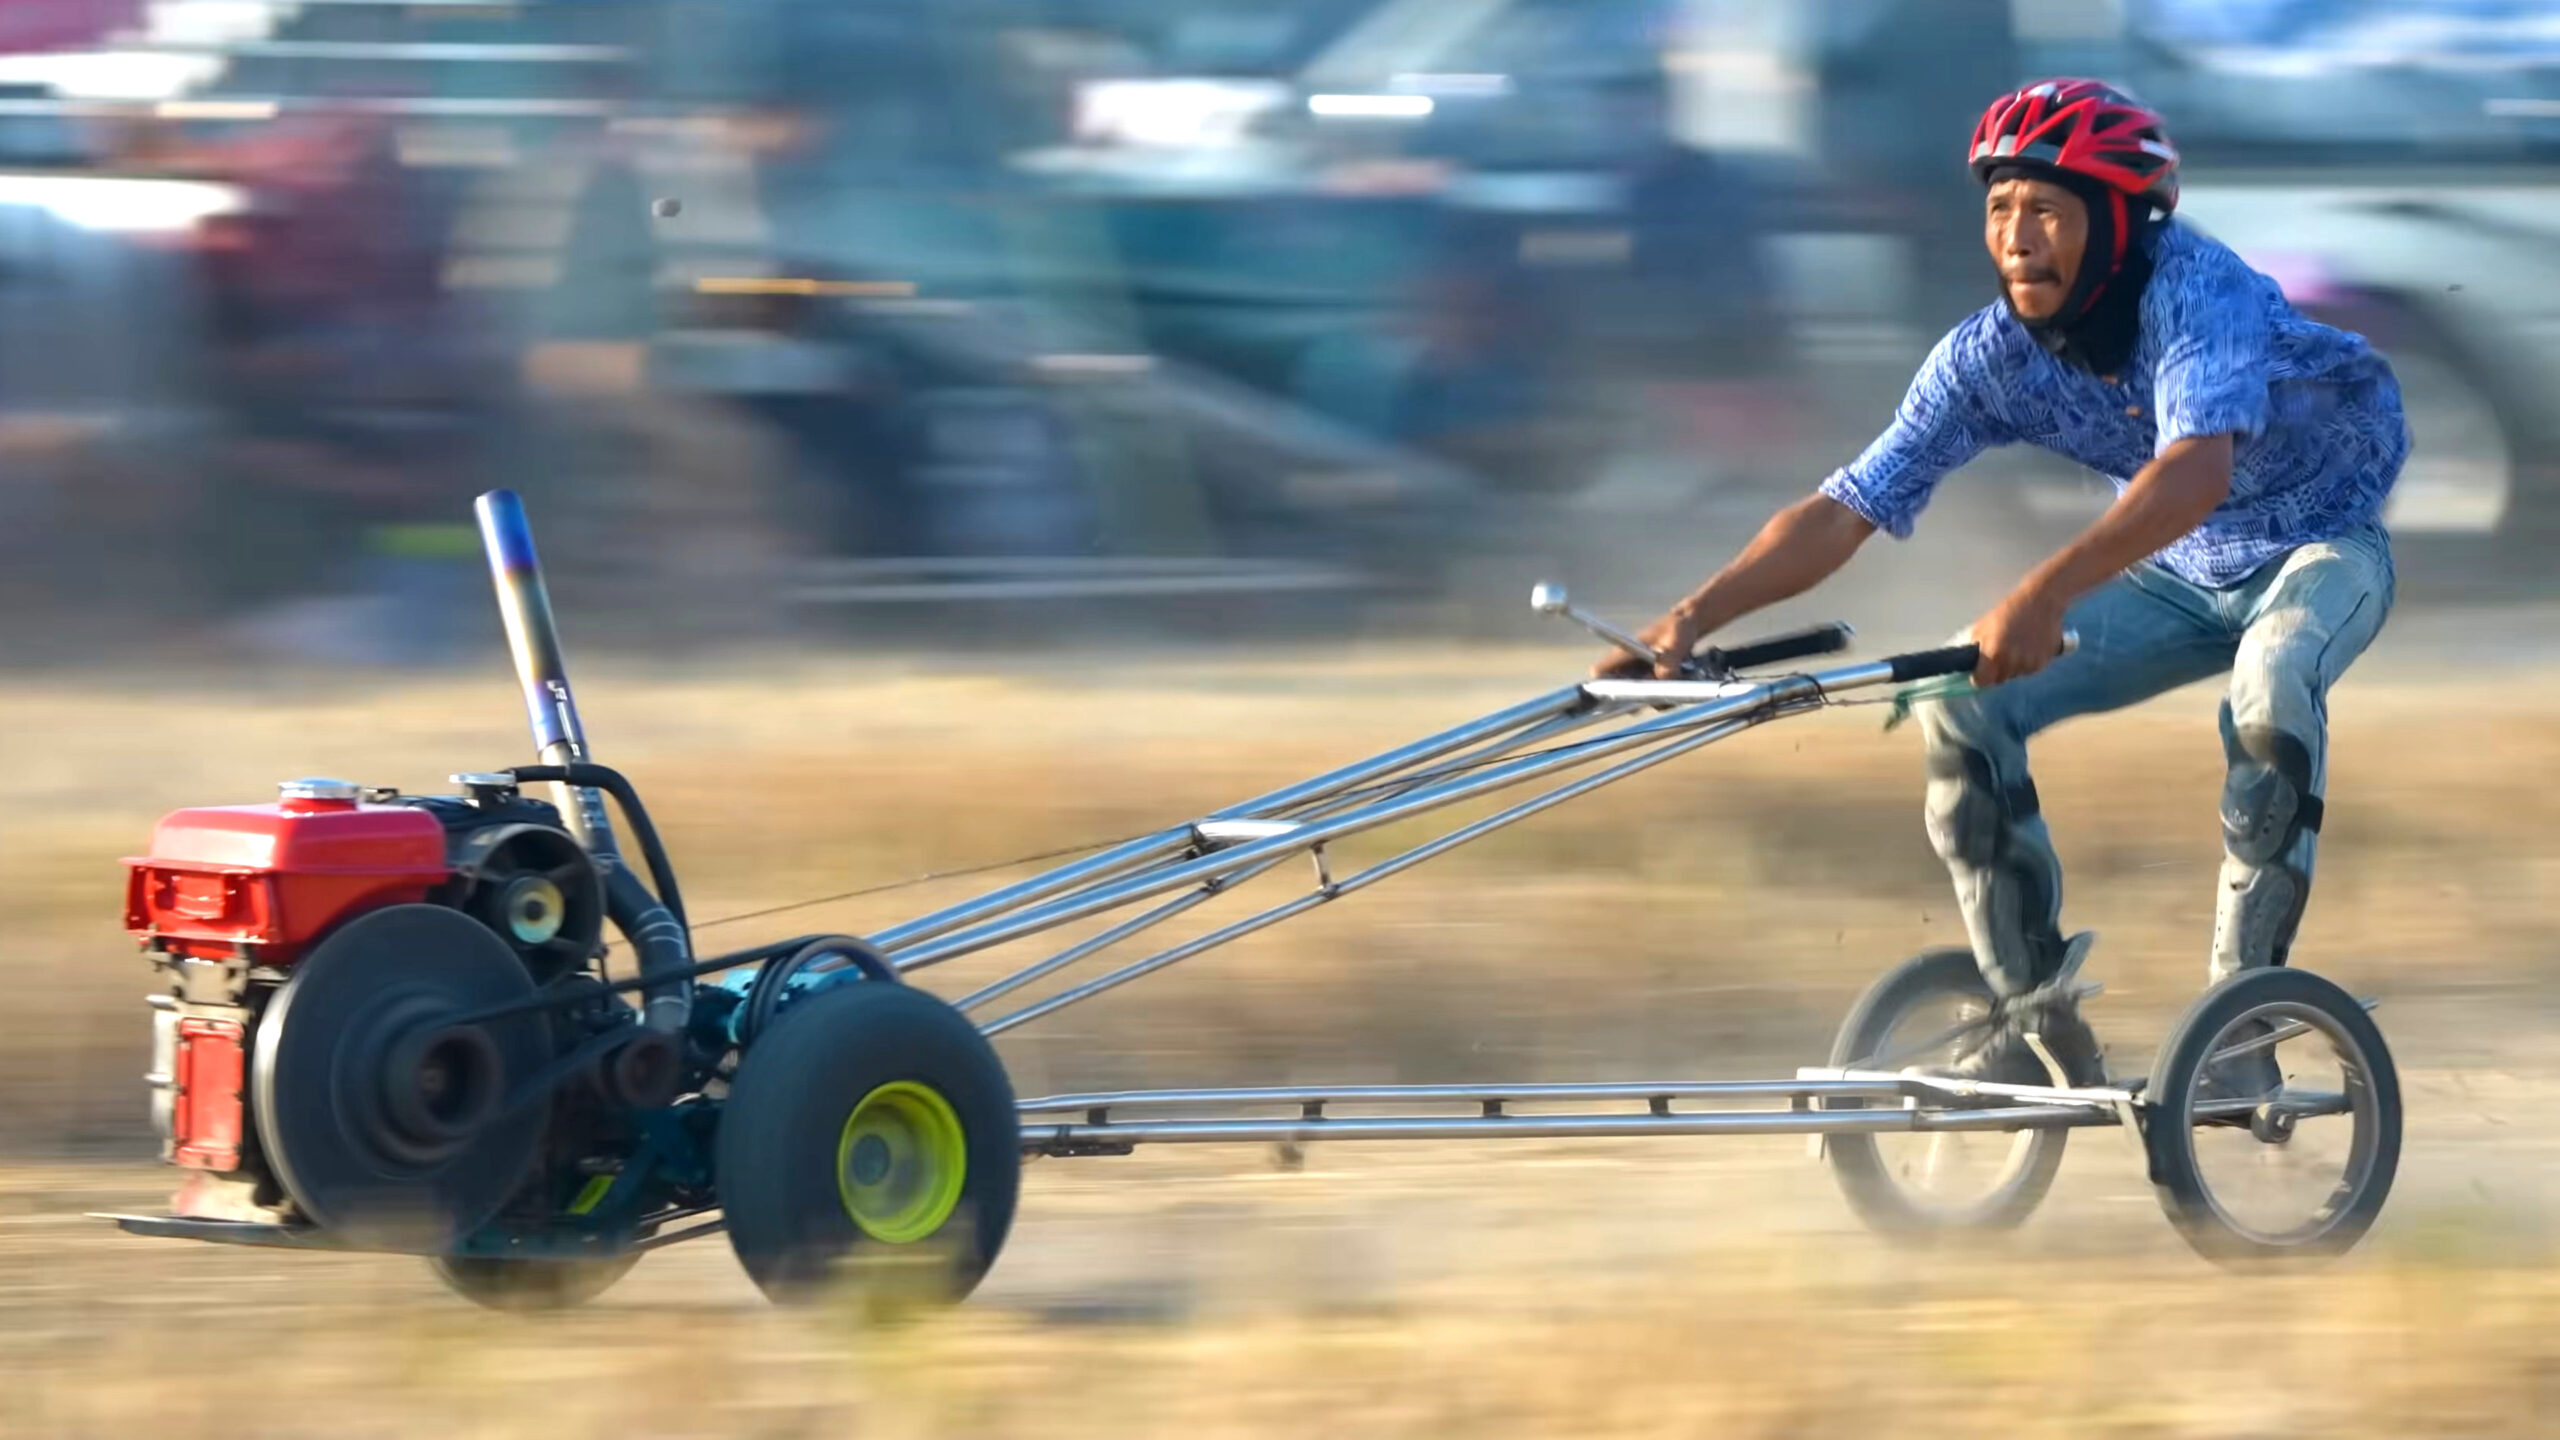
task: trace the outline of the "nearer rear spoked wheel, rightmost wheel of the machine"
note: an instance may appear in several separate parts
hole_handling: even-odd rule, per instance
[[[2399,1071],[2365,1007],[2317,974],[2250,969],[2207,989],[2143,1092],[2161,1209],[2212,1261],[2340,1256],[2391,1194]]]

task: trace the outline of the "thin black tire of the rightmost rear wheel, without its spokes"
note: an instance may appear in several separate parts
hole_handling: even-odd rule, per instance
[[[2373,1084],[2376,1150],[2373,1174],[2365,1189],[2340,1212],[2337,1222],[2299,1245],[2266,1245],[2235,1232],[2207,1197],[2204,1176],[2196,1168],[2194,1127],[2166,1125],[2161,1097],[2179,1097],[2184,1109],[2204,1068],[2207,1048],[2232,1020],[2260,1004],[2304,1004],[2330,1015],[2365,1053]],[[2161,1197],[2161,1209],[2186,1243],[2207,1261],[2255,1268],[2268,1261],[2319,1261],[2342,1256],[2365,1238],[2391,1197],[2391,1179],[2399,1174],[2401,1150],[2401,1092],[2399,1066],[2383,1043],[2381,1027],[2335,981],[2294,966],[2260,966],[2225,976],[2186,1007],[2186,1015],[2161,1038],[2153,1056],[2150,1079],[2143,1084],[2143,1145],[2150,1156],[2150,1184]]]

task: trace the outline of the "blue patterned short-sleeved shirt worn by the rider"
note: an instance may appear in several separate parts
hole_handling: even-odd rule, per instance
[[[2171,441],[2220,433],[2237,436],[2230,497],[2153,556],[2212,589],[2378,520],[2409,456],[2381,354],[2304,320],[2273,279],[2171,220],[2112,384],[2048,354],[1994,300],[1938,341],[1894,423],[1820,489],[1910,538],[1938,482],[1992,446],[2043,446],[2125,489]]]

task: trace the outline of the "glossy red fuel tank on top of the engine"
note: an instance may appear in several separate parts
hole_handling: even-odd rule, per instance
[[[125,928],[169,951],[289,966],[340,920],[425,899],[445,830],[407,805],[282,799],[177,810],[125,858]]]

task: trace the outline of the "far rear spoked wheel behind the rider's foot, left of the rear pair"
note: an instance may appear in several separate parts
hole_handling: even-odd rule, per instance
[[[1971,951],[1923,951],[1884,971],[1851,1007],[1830,1045],[1843,1071],[1928,1071],[1981,1043],[1992,986]],[[2020,1051],[2012,1084],[2053,1084]],[[1830,1099],[1866,1109],[1874,1099]],[[1848,1207],[1879,1235],[1925,1245],[1951,1235],[2012,1230],[2043,1204],[2063,1163],[2068,1130],[1930,1130],[1830,1135],[1823,1145]]]

